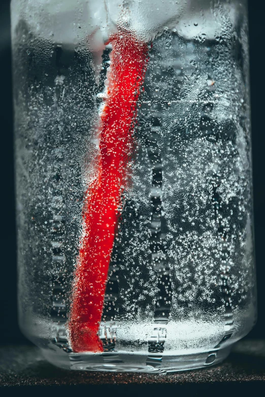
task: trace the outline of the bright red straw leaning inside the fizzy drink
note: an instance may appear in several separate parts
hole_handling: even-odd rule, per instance
[[[137,100],[144,81],[148,46],[127,32],[112,40],[108,72],[109,96],[100,125],[100,156],[96,181],[90,184],[83,207],[83,236],[69,318],[74,352],[101,352],[97,333],[103,312],[118,208],[128,174],[127,163],[134,148]]]

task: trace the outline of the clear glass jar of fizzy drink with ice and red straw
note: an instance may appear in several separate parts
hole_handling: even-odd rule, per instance
[[[221,362],[256,318],[246,2],[11,8],[22,332],[73,370]]]

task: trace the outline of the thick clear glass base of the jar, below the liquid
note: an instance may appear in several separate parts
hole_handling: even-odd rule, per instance
[[[231,345],[221,349],[185,355],[164,353],[145,355],[113,351],[106,353],[70,353],[58,356],[50,350],[42,350],[45,358],[53,365],[74,371],[167,374],[220,364],[228,356]]]

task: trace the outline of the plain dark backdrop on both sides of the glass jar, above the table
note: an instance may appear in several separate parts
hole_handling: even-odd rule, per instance
[[[0,343],[29,343],[17,324],[16,233],[13,168],[10,0],[0,0]],[[252,106],[255,247],[258,322],[248,338],[264,338],[265,308],[265,130],[264,29],[265,2],[249,0],[250,82]],[[264,319],[263,319],[264,318]]]

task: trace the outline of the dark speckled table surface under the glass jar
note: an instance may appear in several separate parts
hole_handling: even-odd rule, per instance
[[[166,391],[167,387],[172,385],[176,390],[176,386],[179,385],[200,387],[218,384],[221,390],[222,386],[227,384],[237,384],[241,387],[243,385],[245,388],[249,384],[253,386],[264,381],[265,340],[246,339],[238,342],[221,365],[169,375],[61,370],[46,362],[35,346],[0,346],[0,386],[28,386],[36,390],[38,386],[67,386],[69,389],[73,386],[89,385],[90,390],[100,391],[100,387],[105,386],[106,390],[108,385],[108,390],[111,390],[112,386],[116,387],[113,388],[116,390],[115,395],[119,390],[123,390],[125,395],[139,395],[137,390],[143,391],[143,387],[147,386],[148,390],[153,388],[152,390],[156,391],[163,386],[162,389]],[[134,388],[140,385],[141,388]]]

